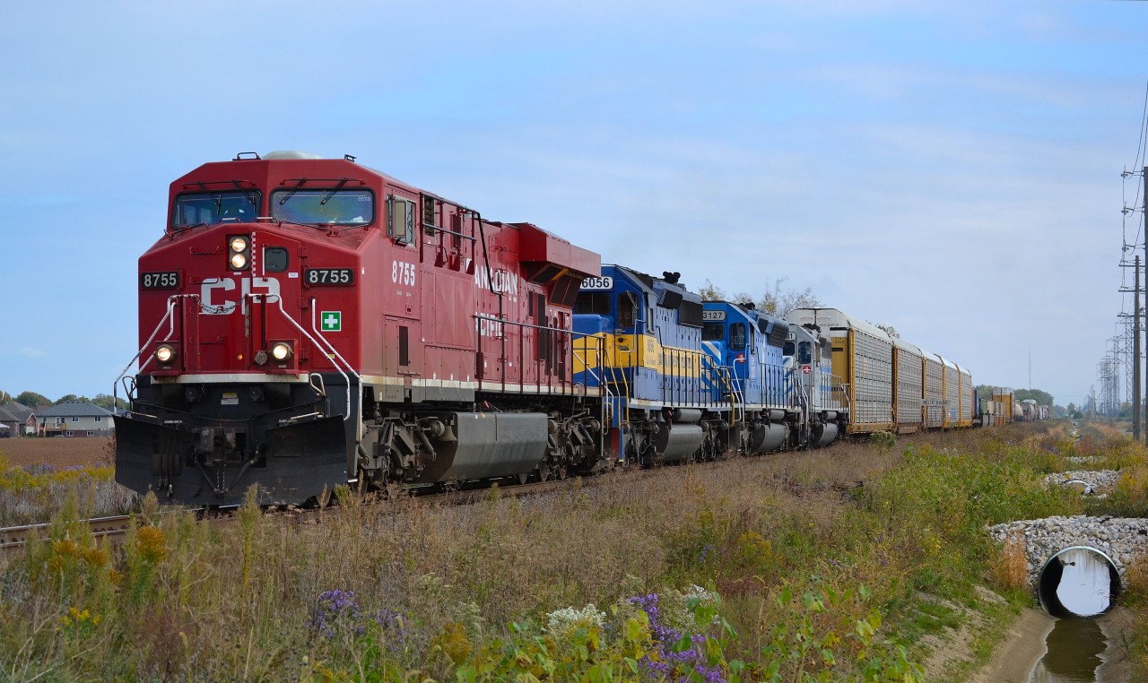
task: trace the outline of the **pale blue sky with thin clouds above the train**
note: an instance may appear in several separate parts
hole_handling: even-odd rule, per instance
[[[1146,34],[1119,0],[3,3],[0,390],[110,394],[169,184],[298,149],[1080,404]]]

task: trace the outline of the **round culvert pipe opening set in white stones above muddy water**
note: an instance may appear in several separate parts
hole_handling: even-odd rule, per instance
[[[1120,575],[1112,558],[1085,545],[1057,552],[1037,576],[1037,598],[1053,616],[1103,614],[1119,592]]]

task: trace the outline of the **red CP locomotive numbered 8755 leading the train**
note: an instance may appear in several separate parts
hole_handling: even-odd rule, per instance
[[[171,185],[139,259],[116,479],[171,500],[302,502],[604,467],[572,305],[600,258],[347,156],[243,153]]]

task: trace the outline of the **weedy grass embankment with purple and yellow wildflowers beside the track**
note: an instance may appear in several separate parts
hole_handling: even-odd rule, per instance
[[[955,681],[1032,604],[1023,558],[986,525],[1148,515],[1145,451],[1123,437],[1030,425],[889,447],[466,507],[343,495],[344,514],[310,526],[249,507],[208,527],[150,502],[116,551],[75,521],[91,496],[73,498],[3,568],[0,677]],[[1120,468],[1118,490],[1045,487],[1083,468],[1064,455],[1102,456],[1087,468]],[[1148,615],[1143,574],[1122,599]],[[914,663],[970,619],[970,660]]]

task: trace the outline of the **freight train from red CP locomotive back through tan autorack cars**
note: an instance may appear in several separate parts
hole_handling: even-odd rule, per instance
[[[195,505],[824,447],[977,405],[967,370],[835,309],[701,301],[350,156],[172,183],[139,343],[116,479]]]

